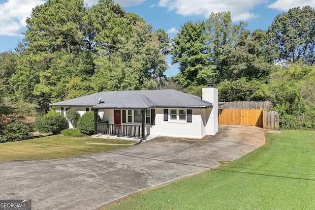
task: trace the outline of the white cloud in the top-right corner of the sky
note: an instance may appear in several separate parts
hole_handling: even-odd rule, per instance
[[[287,12],[290,8],[293,7],[303,7],[309,5],[312,8],[315,7],[315,0],[277,0],[272,4],[268,5],[268,8],[277,9],[280,11]]]

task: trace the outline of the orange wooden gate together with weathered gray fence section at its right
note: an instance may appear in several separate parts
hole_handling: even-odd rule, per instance
[[[257,109],[219,109],[219,124],[252,125],[272,129],[279,127],[279,115],[275,111]]]

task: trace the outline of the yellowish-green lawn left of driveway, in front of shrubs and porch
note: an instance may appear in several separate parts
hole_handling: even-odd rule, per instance
[[[100,139],[91,136],[78,138],[54,135],[18,142],[0,143],[0,160],[64,158],[130,147],[126,145],[85,144],[87,142],[132,144],[136,141]]]

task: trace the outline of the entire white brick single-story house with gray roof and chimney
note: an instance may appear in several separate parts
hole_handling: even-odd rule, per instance
[[[95,134],[145,139],[148,135],[200,139],[218,132],[218,89],[202,97],[177,90],[104,91],[50,104],[64,114],[95,112]],[[101,122],[96,122],[97,114]]]

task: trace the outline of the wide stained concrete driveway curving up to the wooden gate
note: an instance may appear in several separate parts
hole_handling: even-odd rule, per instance
[[[32,199],[32,209],[92,210],[144,189],[234,160],[265,143],[252,126],[220,125],[202,140],[157,137],[131,148],[80,157],[0,161],[0,199]]]

